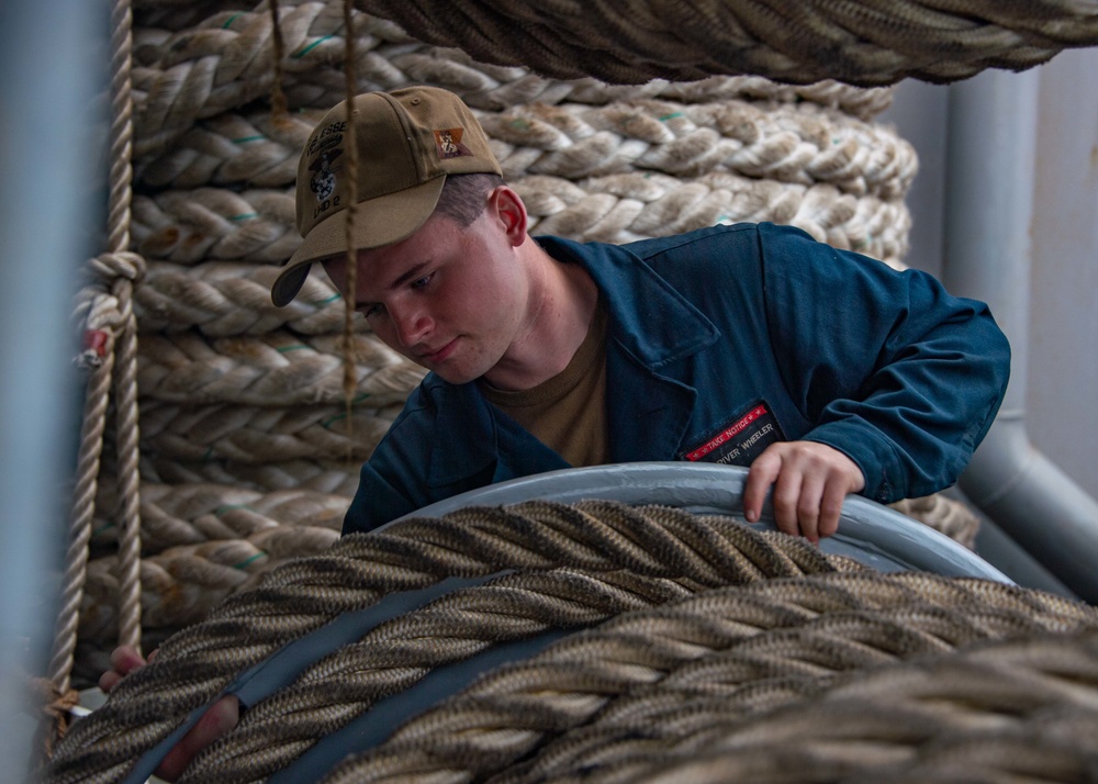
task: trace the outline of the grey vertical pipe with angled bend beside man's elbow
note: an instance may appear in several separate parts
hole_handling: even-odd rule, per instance
[[[1010,384],[960,486],[1067,587],[1098,603],[1098,503],[1026,432],[1040,74],[984,71],[949,92],[943,281],[987,302],[1010,339]]]

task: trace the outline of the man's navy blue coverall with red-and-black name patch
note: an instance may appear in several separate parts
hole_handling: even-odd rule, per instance
[[[537,242],[582,265],[607,309],[612,462],[748,464],[806,439],[844,452],[862,494],[889,503],[953,484],[1006,391],[1010,349],[985,304],[797,228]],[[428,373],[362,467],[344,533],[568,467],[475,382]]]

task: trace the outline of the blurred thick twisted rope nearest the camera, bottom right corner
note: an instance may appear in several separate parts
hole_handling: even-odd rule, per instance
[[[989,640],[800,684],[798,698],[746,716],[715,698],[607,727],[490,781],[1082,784],[1098,763],[1096,662],[1090,625]]]

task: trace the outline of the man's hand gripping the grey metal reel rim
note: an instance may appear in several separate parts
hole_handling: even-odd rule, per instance
[[[842,500],[865,486],[861,469],[838,449],[815,441],[778,441],[755,458],[743,490],[743,516],[759,520],[766,491],[778,530],[817,544],[839,529]]]

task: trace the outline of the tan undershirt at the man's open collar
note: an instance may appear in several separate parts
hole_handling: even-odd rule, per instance
[[[568,367],[534,389],[517,392],[477,382],[489,402],[551,447],[573,467],[609,461],[606,425],[606,310],[595,309],[587,335]]]

